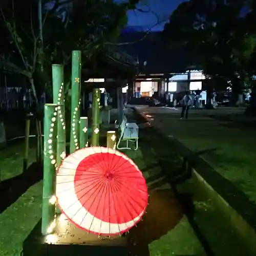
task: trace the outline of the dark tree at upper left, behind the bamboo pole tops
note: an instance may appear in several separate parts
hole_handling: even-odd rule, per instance
[[[51,64],[68,66],[74,49],[82,51],[83,59],[92,58],[105,41],[118,36],[127,22],[126,11],[135,8],[137,2],[55,0],[52,4],[45,0],[42,17],[40,13],[38,16],[40,1],[1,2],[0,26],[4,35],[0,49],[1,68],[28,78],[38,106],[51,80]]]

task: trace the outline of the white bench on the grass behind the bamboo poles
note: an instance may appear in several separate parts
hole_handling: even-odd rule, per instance
[[[138,149],[138,139],[139,139],[139,127],[136,123],[127,123],[127,119],[124,116],[122,123],[120,125],[121,135],[117,143],[118,150],[131,150],[129,147],[129,141],[136,142],[135,150]],[[126,147],[120,147],[121,141],[126,141]]]

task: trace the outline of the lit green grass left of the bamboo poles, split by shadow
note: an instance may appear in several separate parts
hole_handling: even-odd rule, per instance
[[[23,157],[24,143],[21,142],[0,151],[1,181],[22,174]],[[29,164],[32,162],[35,162],[35,140],[31,140],[29,153]],[[9,189],[12,190],[12,187]],[[30,187],[0,215],[1,256],[19,255],[24,239],[40,218],[41,194],[42,184],[40,182]]]

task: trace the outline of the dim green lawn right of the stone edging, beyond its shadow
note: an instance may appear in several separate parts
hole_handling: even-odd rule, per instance
[[[174,136],[192,151],[216,148],[202,156],[217,172],[242,189],[256,202],[256,137],[253,127],[243,129],[234,122],[204,116],[206,112],[190,112],[188,120],[176,113],[151,113],[152,121],[167,136]],[[208,115],[209,113],[207,113]],[[215,115],[215,110],[211,111]]]

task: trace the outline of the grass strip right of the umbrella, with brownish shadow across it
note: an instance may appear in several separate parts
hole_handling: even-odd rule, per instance
[[[129,234],[137,255],[148,255],[148,252],[151,256],[203,255],[180,203],[162,176],[153,148],[140,147],[136,152],[126,151],[125,154],[142,170],[150,194],[143,221]]]

